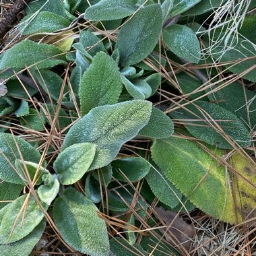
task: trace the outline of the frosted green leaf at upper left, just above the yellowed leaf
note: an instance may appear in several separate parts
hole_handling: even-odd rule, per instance
[[[19,24],[19,30],[23,35],[36,34],[42,32],[55,32],[67,28],[71,22],[61,15],[50,11],[40,11],[36,16],[34,14],[26,15]]]

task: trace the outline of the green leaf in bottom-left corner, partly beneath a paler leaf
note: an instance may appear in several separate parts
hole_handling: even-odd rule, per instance
[[[28,256],[30,255],[32,249],[38,243],[41,238],[44,228],[46,226],[45,220],[42,220],[28,236],[25,236],[21,240],[14,243],[7,243],[6,245],[0,245],[1,256]]]

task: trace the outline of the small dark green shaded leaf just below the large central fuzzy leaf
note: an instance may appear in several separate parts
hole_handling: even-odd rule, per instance
[[[150,163],[144,158],[127,157],[111,162],[113,166],[113,177],[119,181],[140,181],[150,171]],[[127,178],[123,176],[123,174]]]

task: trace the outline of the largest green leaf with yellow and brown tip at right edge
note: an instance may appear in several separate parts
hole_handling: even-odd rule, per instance
[[[166,178],[207,214],[232,224],[242,222],[253,209],[250,217],[255,215],[256,204],[252,200],[255,198],[255,188],[253,190],[238,175],[230,183],[231,176],[227,176],[226,166],[222,166],[197,144],[187,139],[169,137],[156,139],[151,149],[154,162],[162,169]],[[222,150],[213,150],[213,155],[224,155]],[[240,163],[244,170],[237,168]],[[249,165],[241,158],[236,165],[233,164],[238,173],[255,185],[255,165]],[[246,170],[251,174],[246,174]],[[236,186],[237,181],[239,189]],[[230,188],[233,185],[236,198]]]

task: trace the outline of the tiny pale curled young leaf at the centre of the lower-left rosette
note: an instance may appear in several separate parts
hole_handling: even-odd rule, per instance
[[[46,203],[46,205],[51,205],[52,201],[59,193],[59,181],[57,177],[50,173],[43,174],[42,180],[44,181],[44,185],[38,187],[38,197],[42,202]]]

